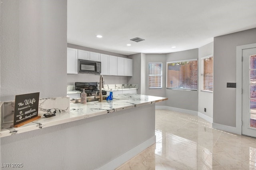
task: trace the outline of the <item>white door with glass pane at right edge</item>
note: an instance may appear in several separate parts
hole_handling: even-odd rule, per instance
[[[256,137],[256,48],[242,56],[242,134]]]

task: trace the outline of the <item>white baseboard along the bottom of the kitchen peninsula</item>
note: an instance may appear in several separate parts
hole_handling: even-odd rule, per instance
[[[153,136],[152,138],[132,148],[128,152],[118,156],[117,158],[101,166],[97,170],[113,170],[118,166],[121,166],[122,164],[124,164],[125,162],[133,158],[134,156],[138,155],[140,152],[142,152],[143,150],[145,150],[146,148],[148,148],[154,143],[156,143],[156,136]]]

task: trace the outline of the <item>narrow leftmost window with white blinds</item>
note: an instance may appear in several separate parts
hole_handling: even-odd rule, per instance
[[[162,63],[148,63],[148,88],[162,88]]]

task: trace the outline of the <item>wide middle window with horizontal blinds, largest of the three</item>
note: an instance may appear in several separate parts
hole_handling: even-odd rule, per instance
[[[197,90],[197,59],[167,62],[167,89]]]

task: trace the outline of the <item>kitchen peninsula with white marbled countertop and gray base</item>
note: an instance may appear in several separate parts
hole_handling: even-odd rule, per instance
[[[8,155],[8,140],[15,138],[17,143],[32,141],[38,146],[38,153],[49,160],[47,164],[28,163],[32,166],[28,169],[114,169],[156,142],[155,103],[165,100],[119,94],[112,101],[69,103],[70,111],[42,117],[19,128],[2,129],[2,159],[24,164],[33,159],[17,160]],[[12,149],[22,152],[18,145]],[[53,155],[48,157],[46,153],[52,150]]]

